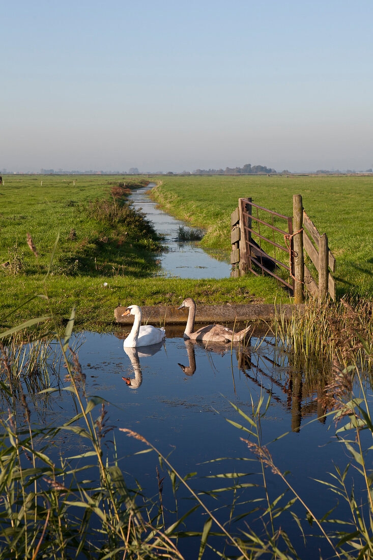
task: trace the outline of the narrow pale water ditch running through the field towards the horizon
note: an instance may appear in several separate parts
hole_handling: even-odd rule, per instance
[[[156,202],[149,196],[153,186],[155,183],[150,183],[149,188],[133,190],[128,200],[135,208],[142,208],[148,220],[153,222],[157,233],[165,237],[163,244],[167,251],[161,255],[160,274],[178,278],[228,278],[231,265],[224,253],[221,254],[222,260],[217,260],[208,251],[201,249],[198,242],[177,240],[179,226],[188,226],[157,208]],[[213,253],[216,254],[216,251]]]

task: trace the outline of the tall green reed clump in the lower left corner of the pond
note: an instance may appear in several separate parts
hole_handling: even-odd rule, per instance
[[[53,255],[47,277],[52,260]],[[44,290],[48,302],[46,284]],[[19,339],[14,339],[6,348],[1,343],[1,367],[7,374],[7,383],[1,381],[0,384],[11,408],[8,418],[1,421],[0,496],[3,507],[0,558],[123,558],[126,554],[129,557],[158,558],[165,555],[180,558],[167,535],[152,525],[149,516],[144,518],[136,506],[134,493],[127,488],[116,461],[109,463],[108,458],[104,458],[101,440],[110,431],[110,426],[104,401],[86,396],[85,375],[70,346],[75,310],[72,310],[63,337],[58,334],[52,309],[49,310],[49,320],[54,325],[54,336],[68,372],[69,386],[62,390],[73,395],[78,412],[59,427],[32,427],[21,383],[25,353],[20,352]],[[48,316],[38,318],[38,321],[46,319]],[[23,329],[24,325],[12,328],[0,334],[0,340],[14,337]],[[27,362],[32,371],[40,363],[45,363],[45,348],[49,343],[47,340],[42,346],[37,346],[37,342],[36,346],[31,345]],[[39,349],[40,356],[35,356],[35,349]],[[61,389],[47,388],[41,393],[50,395],[57,390]],[[24,423],[20,423],[16,413],[20,404]],[[94,419],[92,410],[97,405],[101,405],[101,412]],[[86,438],[91,450],[61,459],[58,466],[48,456],[48,441],[64,430]],[[82,467],[78,466],[78,460],[87,457],[94,457],[96,462],[85,464],[83,469],[96,468],[99,480],[81,482],[79,479]],[[100,520],[98,527],[97,522],[92,525],[91,517]]]

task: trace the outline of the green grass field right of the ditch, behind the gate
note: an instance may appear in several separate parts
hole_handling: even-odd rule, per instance
[[[337,259],[337,297],[373,296],[373,177],[162,176],[152,198],[166,212],[202,227],[202,246],[230,251],[230,214],[239,198],[292,216],[293,194],[326,233]],[[260,279],[258,279],[260,282]]]

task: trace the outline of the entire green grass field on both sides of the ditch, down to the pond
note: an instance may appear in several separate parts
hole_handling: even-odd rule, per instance
[[[370,177],[165,177],[155,180],[154,197],[170,213],[207,231],[202,244],[230,251],[230,214],[239,197],[260,206],[292,212],[300,193],[319,231],[327,232],[337,258],[337,295],[371,299],[373,293],[372,195]],[[41,181],[43,184],[41,184]],[[273,278],[183,280],[153,277],[160,248],[143,217],[128,214],[113,197],[123,176],[4,176],[0,186],[1,318],[6,329],[44,314],[43,279],[57,235],[47,288],[59,318],[77,305],[77,325],[91,328],[113,321],[119,304],[290,301]],[[115,202],[117,200],[117,202]],[[27,246],[27,232],[39,253]],[[151,281],[150,281],[151,278]],[[107,283],[107,286],[104,286]],[[20,309],[17,309],[20,307]]]

